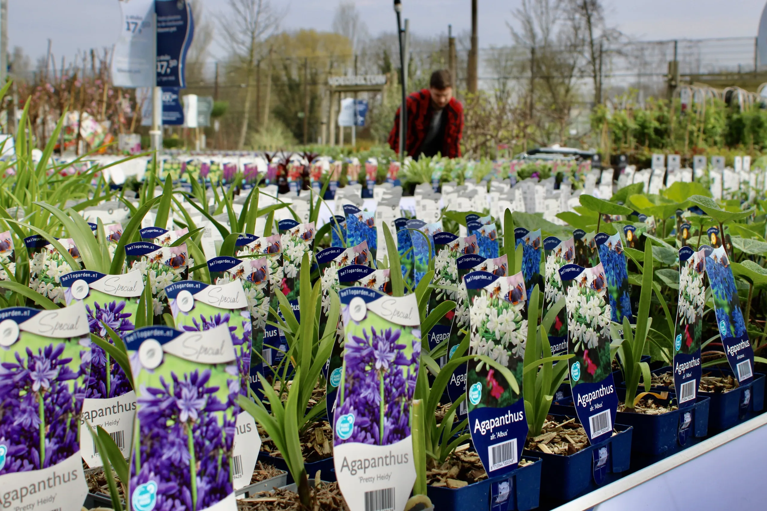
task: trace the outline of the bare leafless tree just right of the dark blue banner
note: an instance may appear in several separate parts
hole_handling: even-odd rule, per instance
[[[253,75],[258,57],[264,54],[262,42],[275,34],[285,13],[269,0],[228,0],[229,12],[218,18],[225,48],[245,71],[245,105],[237,148],[245,146],[251,107]]]

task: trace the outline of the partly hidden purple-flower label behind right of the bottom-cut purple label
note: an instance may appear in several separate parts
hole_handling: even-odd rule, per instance
[[[219,325],[229,326],[237,358],[240,395],[247,397],[251,372],[252,321],[242,280],[237,278],[220,284],[185,280],[170,284],[165,290],[176,328],[199,332]],[[261,438],[258,437],[255,420],[248,412],[239,412],[232,452],[234,467],[237,469],[232,471],[235,490],[250,484],[260,448]]]

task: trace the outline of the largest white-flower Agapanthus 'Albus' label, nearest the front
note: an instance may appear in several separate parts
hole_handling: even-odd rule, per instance
[[[469,433],[482,466],[495,477],[515,470],[528,433],[522,398],[528,329],[525,278],[522,272],[498,277],[476,271],[463,281],[476,293],[470,309],[469,355],[477,358],[466,368]],[[516,388],[496,365],[509,370]]]

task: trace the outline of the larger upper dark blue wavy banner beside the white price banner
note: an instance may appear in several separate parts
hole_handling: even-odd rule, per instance
[[[194,36],[192,8],[185,0],[156,0],[154,11],[157,15],[157,86],[183,89],[186,87],[186,53]]]

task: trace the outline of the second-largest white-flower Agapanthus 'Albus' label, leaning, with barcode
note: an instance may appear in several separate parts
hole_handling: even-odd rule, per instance
[[[568,359],[570,386],[578,419],[591,444],[613,434],[618,396],[610,357],[610,304],[601,264],[584,268],[565,264],[559,269],[567,287]]]

